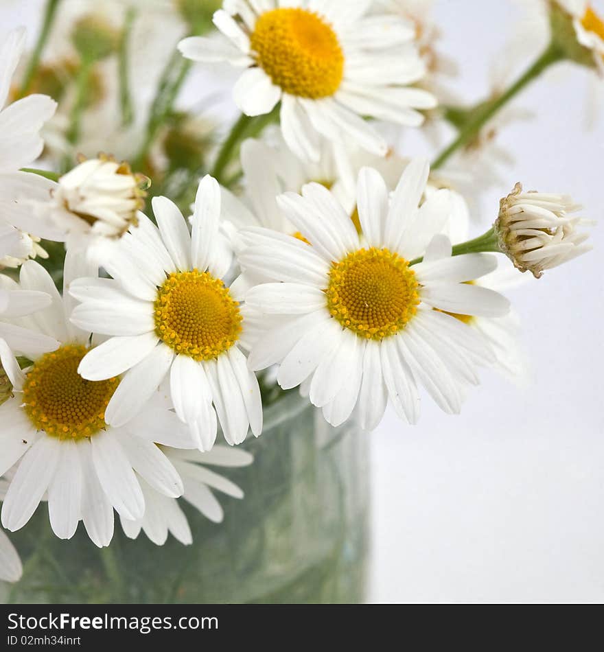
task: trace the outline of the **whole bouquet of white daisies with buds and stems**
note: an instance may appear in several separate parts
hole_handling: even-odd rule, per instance
[[[371,430],[388,404],[417,423],[423,392],[457,414],[482,368],[520,373],[499,290],[587,251],[585,222],[520,183],[482,235],[469,216],[512,186],[509,100],[561,60],[601,83],[588,3],[539,3],[549,45],[476,106],[427,3],[84,4],[49,0],[29,54],[20,28],[0,42],[3,528],[45,501],[60,539],[82,521],[109,546],[117,512],[189,544],[180,500],[219,520],[211,489],[241,498],[206,466],[252,463],[239,446],[282,393]],[[193,62],[237,71],[231,126],[207,97],[177,108]],[[418,128],[432,165],[397,148]],[[16,581],[3,532],[0,551]]]

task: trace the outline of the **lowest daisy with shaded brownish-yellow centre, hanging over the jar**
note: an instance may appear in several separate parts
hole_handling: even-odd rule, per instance
[[[92,271],[89,265],[68,254],[66,287],[86,271]],[[32,330],[60,346],[32,356],[32,365],[22,371],[0,340],[0,360],[14,393],[0,406],[0,474],[18,463],[2,524],[11,531],[23,527],[47,493],[50,524],[58,537],[71,538],[82,520],[93,542],[107,546],[114,508],[129,519],[144,513],[136,474],[167,496],[181,495],[181,478],[156,444],[178,446],[189,441],[188,432],[174,413],[154,403],[124,426],[108,426],[104,413],[119,377],[89,382],[78,374],[91,334],[67,320],[73,301],[68,294],[61,299],[34,261],[21,267],[21,288],[51,296],[51,305],[27,320]]]

